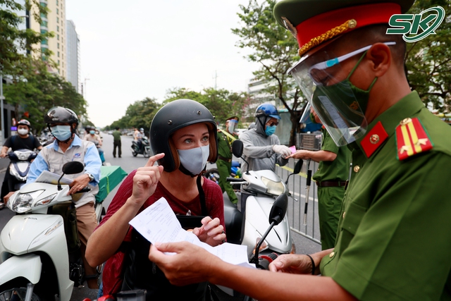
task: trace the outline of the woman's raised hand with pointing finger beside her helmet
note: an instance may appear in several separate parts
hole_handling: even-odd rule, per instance
[[[151,156],[144,167],[137,169],[133,177],[133,192],[128,202],[142,206],[146,200],[154,194],[156,185],[160,180],[163,166],[154,166],[155,162],[163,158],[164,153]]]

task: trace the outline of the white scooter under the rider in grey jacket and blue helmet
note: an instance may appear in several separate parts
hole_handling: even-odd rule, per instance
[[[242,149],[242,142],[235,140],[233,154],[243,159]],[[299,173],[301,167],[302,160],[299,160],[295,171],[288,177]],[[247,245],[249,262],[256,264],[259,269],[268,269],[268,264],[279,254],[294,254],[295,245],[285,216],[288,197],[291,197],[286,186],[288,179],[284,183],[273,171],[263,170],[242,171],[242,178],[227,180],[241,185],[238,207],[230,202],[226,193],[223,195],[227,241]],[[240,293],[229,288],[218,288],[228,295],[240,297]],[[244,300],[248,300],[248,297],[245,296]]]

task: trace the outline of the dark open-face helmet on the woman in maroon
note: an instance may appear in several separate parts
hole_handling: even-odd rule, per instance
[[[206,123],[209,128],[210,155],[208,161],[216,162],[218,159],[217,128],[214,116],[209,109],[191,99],[177,99],[170,102],[156,112],[150,125],[150,145],[154,154],[165,156],[159,164],[167,172],[175,171],[180,167],[178,152],[170,139],[171,135],[180,128],[195,123]]]

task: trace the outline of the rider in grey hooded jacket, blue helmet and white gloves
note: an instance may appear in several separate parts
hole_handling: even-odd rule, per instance
[[[276,164],[284,166],[288,163],[285,158],[291,154],[290,148],[280,145],[279,137],[274,135],[279,120],[279,113],[273,104],[261,104],[257,107],[255,127],[240,135],[244,147],[242,155],[249,163],[249,166],[245,163],[242,165],[243,170],[274,171]]]

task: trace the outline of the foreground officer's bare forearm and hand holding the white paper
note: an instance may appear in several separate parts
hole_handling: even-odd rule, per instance
[[[330,277],[236,266],[189,242],[163,243],[156,247],[151,246],[149,259],[176,285],[209,281],[257,300],[356,300]]]

